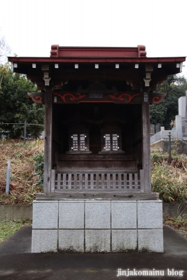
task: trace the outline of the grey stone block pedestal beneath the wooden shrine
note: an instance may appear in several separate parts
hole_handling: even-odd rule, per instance
[[[47,252],[162,253],[162,201],[34,201],[32,253]]]

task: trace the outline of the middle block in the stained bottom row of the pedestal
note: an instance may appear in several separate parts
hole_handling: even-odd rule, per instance
[[[111,230],[85,230],[86,253],[109,253],[111,251]]]

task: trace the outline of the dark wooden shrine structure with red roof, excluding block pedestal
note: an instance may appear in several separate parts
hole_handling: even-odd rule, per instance
[[[148,106],[184,60],[148,58],[144,45],[52,45],[50,57],[9,57],[41,91],[29,97],[46,106],[44,193],[151,193]]]

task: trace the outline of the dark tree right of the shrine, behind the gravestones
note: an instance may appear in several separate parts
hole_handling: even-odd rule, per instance
[[[176,75],[168,76],[167,80],[158,85],[156,92],[167,92],[167,96],[159,104],[150,105],[150,121],[151,124],[165,127],[170,130],[171,120],[178,115],[178,99],[185,96],[187,90],[187,81],[184,77]]]

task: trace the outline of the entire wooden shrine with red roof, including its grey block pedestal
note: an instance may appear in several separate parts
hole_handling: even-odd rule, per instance
[[[9,57],[45,104],[43,193],[32,253],[163,252],[162,201],[151,193],[149,104],[185,57],[137,48],[52,45],[50,57]]]

